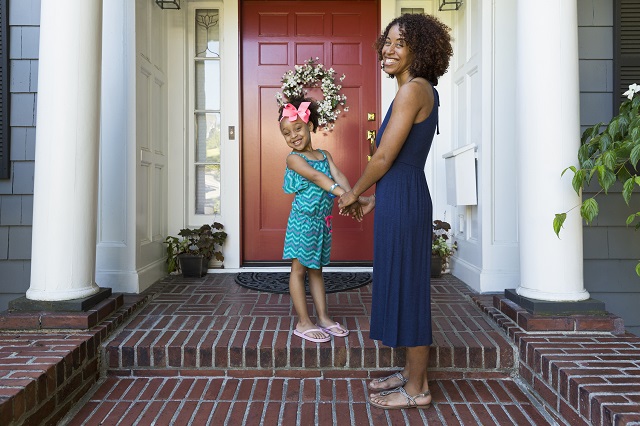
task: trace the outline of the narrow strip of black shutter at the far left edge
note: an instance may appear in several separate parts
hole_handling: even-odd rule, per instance
[[[9,0],[0,0],[0,179],[9,179]]]

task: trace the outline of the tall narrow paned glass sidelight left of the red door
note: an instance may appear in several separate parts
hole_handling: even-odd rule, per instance
[[[196,9],[193,173],[196,215],[221,213],[220,11]]]

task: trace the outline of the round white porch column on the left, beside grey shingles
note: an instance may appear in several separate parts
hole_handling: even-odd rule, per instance
[[[101,37],[102,0],[42,0],[31,300],[99,291]]]

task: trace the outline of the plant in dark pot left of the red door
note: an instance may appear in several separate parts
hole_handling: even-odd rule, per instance
[[[219,222],[202,225],[200,228],[184,228],[178,237],[169,235],[167,245],[167,271],[182,271],[185,277],[202,277],[207,273],[209,260],[215,257],[224,261],[222,245],[227,239],[224,226]]]

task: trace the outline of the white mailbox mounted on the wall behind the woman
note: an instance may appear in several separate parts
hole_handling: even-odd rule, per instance
[[[442,156],[447,171],[447,203],[452,206],[478,204],[475,147],[472,143]]]

